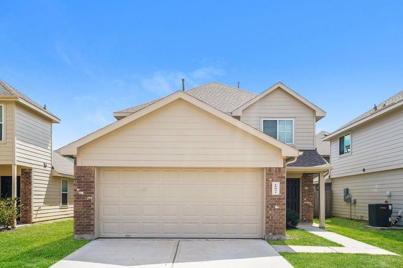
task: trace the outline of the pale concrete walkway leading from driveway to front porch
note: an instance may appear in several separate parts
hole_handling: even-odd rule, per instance
[[[323,237],[327,240],[344,245],[341,246],[292,246],[292,245],[273,245],[279,252],[306,252],[306,253],[364,253],[375,255],[398,255],[394,252],[369,245],[355,239],[329,232],[317,227],[317,224],[302,223],[297,226],[298,229]]]

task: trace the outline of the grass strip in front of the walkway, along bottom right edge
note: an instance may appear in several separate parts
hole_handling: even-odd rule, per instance
[[[403,267],[403,257],[345,253],[280,253],[298,267]]]

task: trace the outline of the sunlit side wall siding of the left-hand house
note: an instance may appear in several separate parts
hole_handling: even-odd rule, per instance
[[[51,121],[17,104],[15,126],[17,164],[33,168],[33,221],[72,217],[73,206],[60,208],[60,178],[51,176]]]

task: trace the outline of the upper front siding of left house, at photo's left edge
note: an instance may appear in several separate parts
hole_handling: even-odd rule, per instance
[[[4,105],[4,141],[0,141],[0,164],[14,163],[14,101],[0,102]]]

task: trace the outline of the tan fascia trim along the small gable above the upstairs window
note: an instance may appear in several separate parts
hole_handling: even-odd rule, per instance
[[[271,87],[267,88],[267,90],[263,91],[262,93],[260,93],[259,95],[257,95],[255,98],[253,98],[252,100],[248,101],[247,103],[245,103],[244,105],[242,105],[241,107],[235,109],[232,112],[233,116],[241,116],[242,115],[242,111],[249,107],[250,105],[252,105],[253,103],[257,102],[258,100],[260,100],[261,98],[263,98],[264,96],[266,96],[267,94],[271,93],[272,91],[276,90],[276,88],[282,88],[284,91],[286,91],[287,93],[289,93],[291,96],[295,97],[296,99],[298,99],[299,101],[301,101],[302,103],[304,103],[305,105],[307,105],[308,107],[312,108],[313,110],[315,110],[316,112],[316,117],[322,118],[324,116],[326,116],[326,112],[323,111],[322,109],[320,109],[319,107],[317,107],[316,105],[314,105],[313,103],[311,103],[310,101],[308,101],[307,99],[305,99],[304,97],[302,97],[301,95],[299,95],[298,93],[296,93],[295,91],[293,91],[290,87],[288,87],[287,85],[283,84],[282,82],[277,82],[274,85],[272,85]]]

